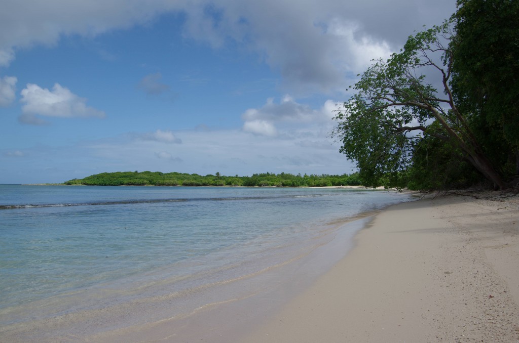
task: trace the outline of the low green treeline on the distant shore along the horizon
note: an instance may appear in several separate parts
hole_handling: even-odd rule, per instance
[[[156,186],[245,186],[245,187],[324,187],[361,185],[357,173],[347,175],[293,175],[288,173],[262,173],[252,176],[201,176],[186,173],[161,173],[160,171],[118,171],[116,173],[101,173],[84,179],[72,179],[65,184],[84,184],[102,186],[121,185],[156,185]]]

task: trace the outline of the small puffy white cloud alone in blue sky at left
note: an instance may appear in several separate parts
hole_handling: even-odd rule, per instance
[[[41,88],[37,84],[28,83],[21,92],[20,102],[24,115],[40,115],[47,117],[105,117],[103,111],[86,105],[86,99],[73,94],[59,83],[54,84],[52,91]]]

